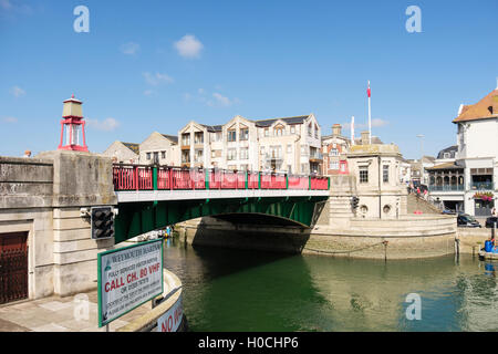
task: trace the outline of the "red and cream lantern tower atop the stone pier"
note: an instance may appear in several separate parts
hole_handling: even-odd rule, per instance
[[[74,98],[64,101],[61,121],[61,150],[89,152],[85,144],[85,122],[83,121],[83,102]],[[80,132],[82,139],[80,139]],[[64,138],[65,137],[65,138]]]

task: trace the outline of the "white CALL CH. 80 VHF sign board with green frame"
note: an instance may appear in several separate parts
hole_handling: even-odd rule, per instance
[[[163,293],[163,240],[98,253],[98,326]]]

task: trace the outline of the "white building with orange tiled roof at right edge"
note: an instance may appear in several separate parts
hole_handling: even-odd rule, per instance
[[[456,164],[464,169],[464,210],[489,216],[498,191],[498,87],[476,104],[461,104],[453,123],[457,125]]]

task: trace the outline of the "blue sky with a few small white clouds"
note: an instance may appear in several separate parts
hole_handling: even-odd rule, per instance
[[[456,144],[459,105],[498,85],[497,13],[496,0],[0,0],[0,155],[56,149],[72,94],[94,153],[235,115],[313,113],[345,136],[354,116],[360,136],[370,81],[372,134],[435,156]]]

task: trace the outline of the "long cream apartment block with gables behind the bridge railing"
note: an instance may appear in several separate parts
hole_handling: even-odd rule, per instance
[[[179,164],[238,170],[321,173],[321,129],[313,114],[224,125],[189,122],[178,131]]]

